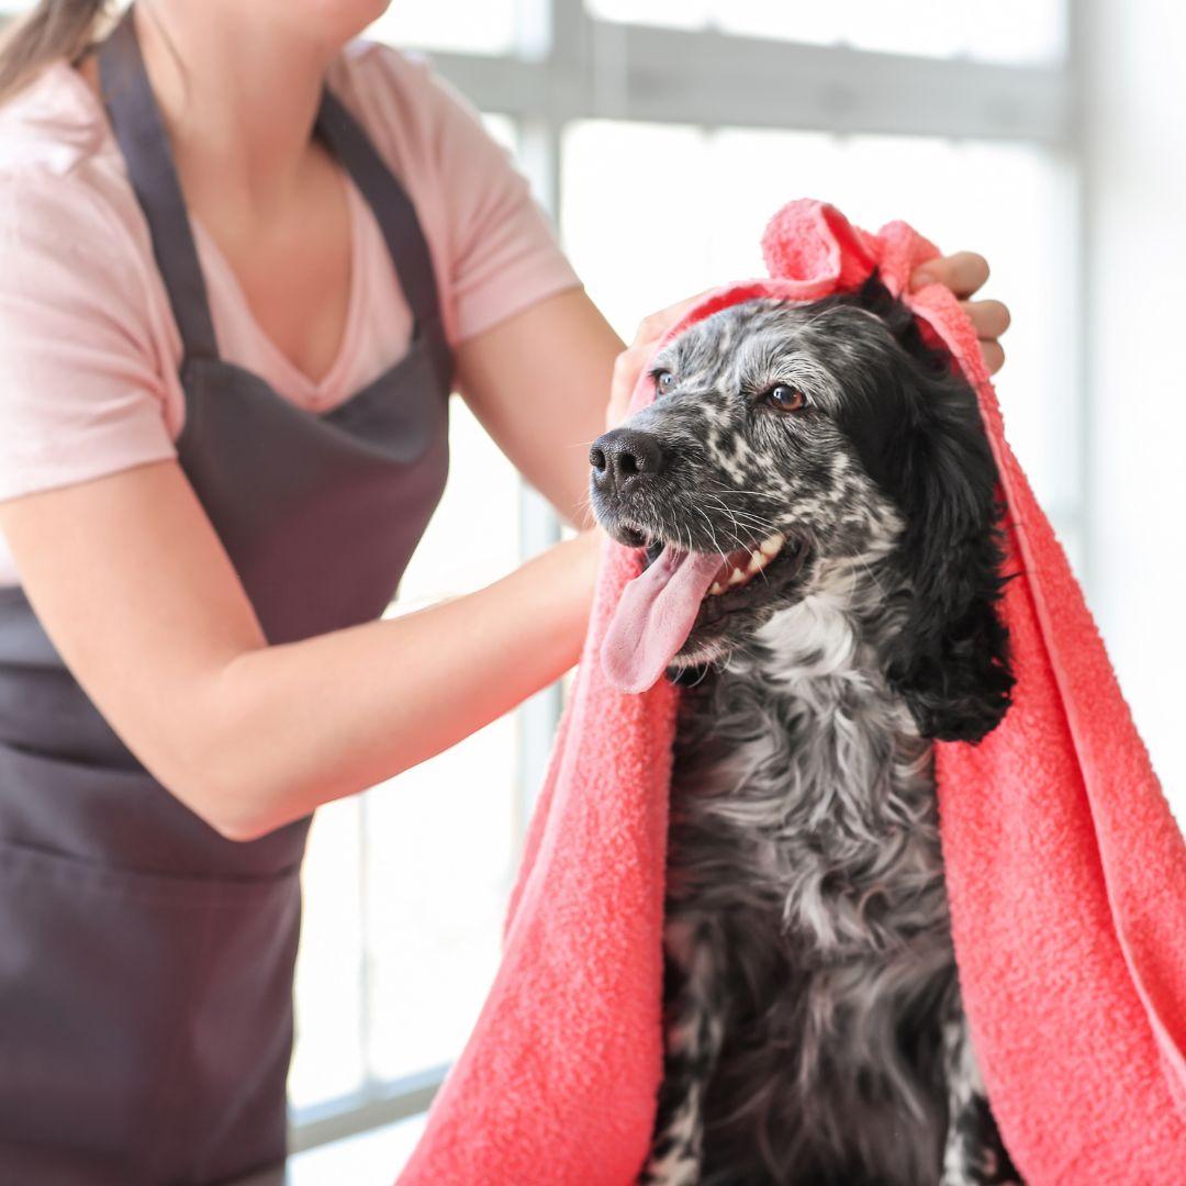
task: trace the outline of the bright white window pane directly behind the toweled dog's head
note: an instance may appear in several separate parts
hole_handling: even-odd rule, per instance
[[[575,126],[565,142],[563,230],[620,333],[710,285],[764,275],[759,240],[792,197],[822,197],[876,230],[904,218],[942,250],[993,268],[983,295],[1013,311],[997,383],[1009,439],[1044,504],[1075,509],[1071,171],[1026,145],[924,138]],[[630,184],[621,184],[629,178]]]

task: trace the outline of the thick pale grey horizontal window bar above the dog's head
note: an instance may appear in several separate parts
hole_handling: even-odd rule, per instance
[[[1065,144],[1061,65],[1014,66],[591,20],[553,0],[540,59],[434,53],[486,110],[530,116]],[[607,65],[613,84],[605,85]],[[594,85],[600,79],[602,84]]]

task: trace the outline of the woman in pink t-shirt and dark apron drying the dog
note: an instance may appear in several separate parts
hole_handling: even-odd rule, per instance
[[[468,108],[344,49],[382,0],[102,7],[0,58],[0,1177],[211,1181],[283,1155],[311,812],[579,652],[592,530],[377,620],[449,390],[586,527],[680,306],[621,351]]]

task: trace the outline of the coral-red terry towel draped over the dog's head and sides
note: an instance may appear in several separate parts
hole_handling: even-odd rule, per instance
[[[969,1024],[1031,1186],[1186,1181],[1186,849],[1075,578],[1001,425],[951,293],[906,293],[938,253],[792,202],[771,280],[709,294],[815,300],[874,267],[980,393],[1007,502],[1002,614],[1018,684],[980,745],[939,744],[943,852]],[[644,372],[645,374],[645,372]],[[632,407],[651,398],[643,378]],[[607,542],[589,633],[531,823],[505,954],[404,1186],[625,1186],[662,1069],[661,933],[676,694],[616,690],[601,639],[637,554]]]

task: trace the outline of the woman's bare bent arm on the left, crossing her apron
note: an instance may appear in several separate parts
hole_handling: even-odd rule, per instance
[[[446,750],[572,667],[598,546],[585,533],[476,593],[268,646],[176,461],[0,503],[0,530],[100,712],[236,840]]]

